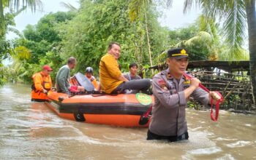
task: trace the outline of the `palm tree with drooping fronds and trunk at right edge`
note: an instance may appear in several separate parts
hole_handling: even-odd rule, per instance
[[[203,9],[206,17],[222,20],[225,41],[232,55],[242,55],[246,27],[249,36],[249,71],[252,81],[252,95],[256,104],[256,11],[255,0],[185,0],[184,12],[192,4]]]

